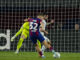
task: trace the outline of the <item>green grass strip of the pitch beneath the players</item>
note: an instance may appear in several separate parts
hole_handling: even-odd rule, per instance
[[[45,58],[40,58],[37,52],[14,52],[0,51],[0,60],[80,60],[80,53],[61,53],[61,58],[53,58],[52,53],[45,52]]]

